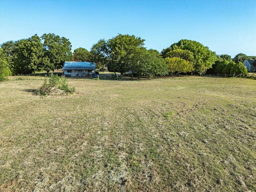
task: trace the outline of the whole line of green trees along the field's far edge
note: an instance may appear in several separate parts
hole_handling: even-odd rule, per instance
[[[162,52],[144,47],[144,39],[128,34],[118,34],[109,40],[100,39],[90,51],[77,48],[71,52],[71,42],[55,34],[43,34],[1,44],[0,80],[8,75],[54,71],[65,61],[95,62],[98,70],[134,76],[164,76],[168,74],[206,72],[247,73],[242,62],[252,56],[238,54],[216,55],[207,46],[192,40],[180,40]]]

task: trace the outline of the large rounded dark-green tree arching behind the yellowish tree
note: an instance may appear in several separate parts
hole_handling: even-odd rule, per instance
[[[161,55],[166,58],[168,52],[177,49],[188,50],[193,53],[193,59],[190,62],[193,63],[194,71],[199,74],[203,74],[207,69],[212,68],[212,65],[217,60],[216,53],[209,50],[208,47],[199,42],[186,39],[180,40],[178,43],[174,43],[169,48],[162,50]]]

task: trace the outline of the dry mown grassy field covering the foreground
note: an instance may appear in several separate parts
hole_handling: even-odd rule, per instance
[[[256,191],[256,80],[0,83],[0,191]]]

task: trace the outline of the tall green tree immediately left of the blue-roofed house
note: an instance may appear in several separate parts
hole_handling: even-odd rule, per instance
[[[41,63],[41,69],[49,74],[50,70],[62,68],[65,61],[72,60],[71,43],[65,38],[55,34],[43,34],[41,36],[44,47],[44,60],[50,60],[50,64]],[[48,57],[48,59],[46,58]],[[50,66],[50,67],[49,67]],[[49,70],[50,69],[50,70]]]

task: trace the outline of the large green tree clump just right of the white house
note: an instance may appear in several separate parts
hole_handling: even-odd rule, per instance
[[[110,72],[132,71],[138,76],[165,75],[167,67],[164,60],[156,50],[146,50],[141,38],[128,34],[109,39],[100,40],[91,49],[92,61],[96,65],[107,66]]]

